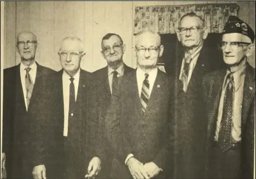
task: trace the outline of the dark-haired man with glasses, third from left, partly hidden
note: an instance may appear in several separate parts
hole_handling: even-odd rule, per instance
[[[133,68],[128,67],[123,62],[123,55],[125,52],[125,44],[121,39],[120,35],[115,33],[108,33],[104,35],[101,41],[102,56],[107,61],[107,67],[101,68],[94,73],[92,73],[94,79],[95,89],[97,89],[97,96],[100,98],[98,100],[98,108],[100,113],[100,129],[102,130],[104,120],[106,119],[106,112],[109,108],[110,98],[112,96],[113,86],[117,85],[117,79],[120,76],[130,73]],[[104,134],[100,135],[101,137]],[[105,140],[102,140],[105,146],[105,160],[102,161],[102,171],[100,177],[109,178],[110,170],[112,166],[114,148],[109,146]]]

